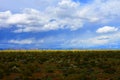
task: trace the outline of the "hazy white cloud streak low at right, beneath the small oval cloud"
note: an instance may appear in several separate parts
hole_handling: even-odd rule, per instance
[[[96,47],[96,46],[112,46],[119,43],[120,40],[120,32],[116,32],[113,34],[102,34],[99,36],[92,36],[88,38],[74,38],[65,40],[62,44],[63,47]]]

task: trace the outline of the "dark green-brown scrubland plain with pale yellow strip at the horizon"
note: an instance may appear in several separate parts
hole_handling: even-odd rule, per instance
[[[0,80],[120,80],[120,51],[0,51]]]

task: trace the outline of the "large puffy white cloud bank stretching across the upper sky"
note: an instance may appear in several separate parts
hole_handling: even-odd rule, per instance
[[[51,4],[50,1],[47,2]],[[87,23],[109,23],[120,18],[119,0],[94,0],[86,5],[73,0],[57,0],[55,3],[42,11],[24,9],[19,13],[0,12],[0,28],[14,26],[15,33],[58,29],[73,31]]]

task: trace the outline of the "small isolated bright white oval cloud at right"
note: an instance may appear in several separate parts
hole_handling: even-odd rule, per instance
[[[96,32],[97,33],[109,33],[109,32],[116,32],[118,31],[118,28],[112,27],[112,26],[104,26],[99,28]]]

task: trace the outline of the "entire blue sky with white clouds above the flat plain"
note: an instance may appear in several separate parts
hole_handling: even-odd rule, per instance
[[[0,0],[0,49],[120,49],[120,0]]]

